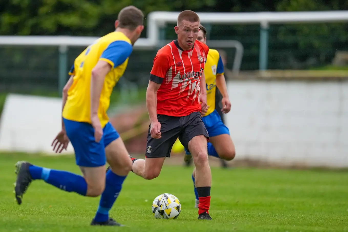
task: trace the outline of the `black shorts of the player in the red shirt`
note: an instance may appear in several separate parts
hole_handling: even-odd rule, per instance
[[[182,117],[157,114],[157,119],[161,123],[162,137],[152,138],[149,126],[148,142],[145,151],[146,158],[170,157],[172,147],[178,137],[187,150],[188,144],[193,137],[204,135],[207,139],[209,138],[208,131],[199,112],[193,112]]]

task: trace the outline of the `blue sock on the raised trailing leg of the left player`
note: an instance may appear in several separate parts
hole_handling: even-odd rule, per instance
[[[29,167],[29,172],[33,179],[42,179],[66,192],[76,192],[84,196],[87,193],[87,183],[82,176],[68,171],[52,170],[34,165]]]

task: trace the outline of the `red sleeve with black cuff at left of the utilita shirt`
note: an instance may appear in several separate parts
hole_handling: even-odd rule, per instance
[[[153,59],[150,81],[161,84],[170,68],[169,56],[165,53],[157,53]]]

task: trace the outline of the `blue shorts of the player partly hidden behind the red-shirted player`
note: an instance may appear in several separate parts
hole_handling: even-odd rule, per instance
[[[208,131],[209,137],[214,137],[223,134],[230,134],[230,130],[223,124],[219,113],[214,110],[212,113],[202,117],[205,128]]]

